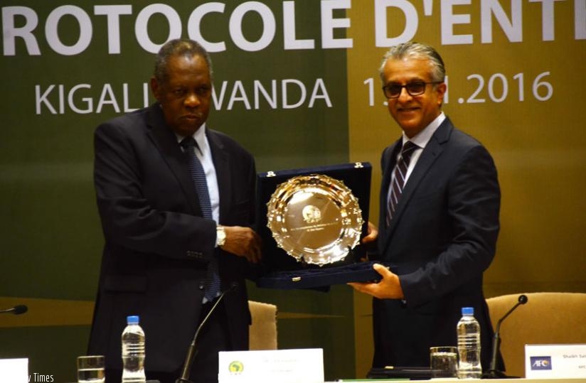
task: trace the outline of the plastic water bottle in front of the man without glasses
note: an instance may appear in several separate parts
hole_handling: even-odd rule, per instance
[[[122,331],[122,383],[146,382],[144,375],[144,331],[139,317],[127,317],[127,326]]]

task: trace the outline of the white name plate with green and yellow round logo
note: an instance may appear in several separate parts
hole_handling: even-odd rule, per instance
[[[218,383],[322,383],[321,348],[219,353]]]

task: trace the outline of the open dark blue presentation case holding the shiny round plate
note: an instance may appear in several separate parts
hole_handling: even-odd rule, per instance
[[[372,166],[368,162],[259,173],[257,175],[257,230],[262,237],[262,263],[266,272],[260,279],[257,279],[257,286],[281,289],[327,289],[335,284],[380,279],[380,275],[372,268],[373,262],[361,261],[367,255],[367,249],[364,245],[358,244],[341,261],[324,266],[307,264],[303,261],[297,261],[279,248],[267,227],[267,203],[280,184],[296,176],[322,174],[341,180],[358,199],[364,221],[361,237],[364,237],[368,231],[371,173]]]

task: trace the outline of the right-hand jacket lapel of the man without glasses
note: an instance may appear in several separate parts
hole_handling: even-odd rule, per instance
[[[220,223],[224,222],[229,213],[231,195],[230,156],[225,151],[218,132],[211,129],[206,130],[208,143],[212,151],[215,177],[218,180],[218,193],[220,194]]]

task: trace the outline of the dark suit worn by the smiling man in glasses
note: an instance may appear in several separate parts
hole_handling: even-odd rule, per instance
[[[481,324],[489,366],[493,330],[482,274],[494,257],[500,191],[494,162],[478,141],[446,119],[422,151],[385,227],[390,176],[401,141],[383,151],[378,250],[400,276],[405,301],[373,301],[373,367],[429,366],[429,347],[457,345],[464,306]]]

